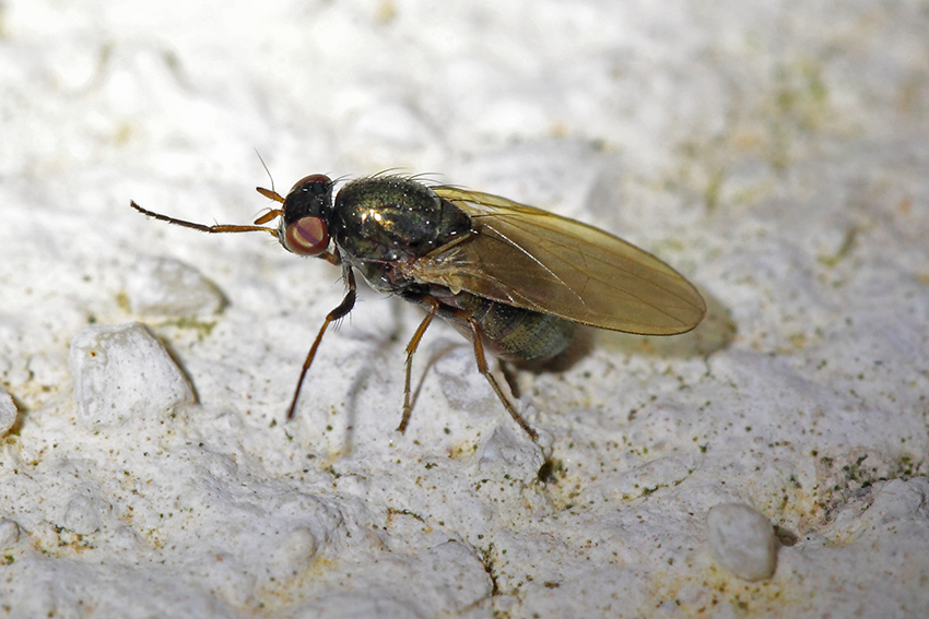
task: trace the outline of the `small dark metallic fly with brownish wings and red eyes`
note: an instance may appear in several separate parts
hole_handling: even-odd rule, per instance
[[[592,226],[505,198],[456,187],[428,187],[412,178],[378,175],[348,182],[315,174],[286,197],[257,188],[279,202],[254,225],[207,226],[131,206],[145,215],[204,233],[274,235],[287,251],[342,267],[348,287],[326,316],[306,356],[287,418],[329,325],[355,305],[355,272],[375,290],[425,309],[407,345],[403,432],[410,421],[413,355],[438,316],[472,343],[478,371],[503,406],[532,438],[487,368],[502,360],[543,362],[565,352],[577,324],[642,335],[673,335],[706,313],[696,288],[651,255]],[[277,227],[266,226],[279,219]]]

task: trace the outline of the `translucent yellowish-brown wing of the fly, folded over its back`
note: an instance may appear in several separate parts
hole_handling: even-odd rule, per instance
[[[497,195],[435,187],[474,234],[424,257],[420,281],[600,329],[671,335],[706,303],[677,271],[592,226]]]

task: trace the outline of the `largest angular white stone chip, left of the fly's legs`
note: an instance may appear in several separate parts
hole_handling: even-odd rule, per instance
[[[71,341],[68,360],[78,419],[87,426],[161,415],[195,400],[184,372],[139,323],[82,330]]]

